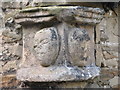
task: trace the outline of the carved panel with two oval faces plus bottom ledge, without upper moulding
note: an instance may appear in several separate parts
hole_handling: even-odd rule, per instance
[[[27,30],[32,31],[29,33]],[[29,66],[17,71],[19,80],[36,82],[78,81],[99,75],[99,68],[89,63],[92,60],[92,57],[88,58],[88,51],[91,51],[89,44],[91,44],[92,39],[87,30],[71,27],[66,23],[33,30],[34,27],[25,29],[24,56],[26,61],[23,64],[29,64]],[[28,40],[27,37],[30,36],[31,38]],[[31,48],[28,46],[30,44]],[[35,53],[31,52],[32,50]]]

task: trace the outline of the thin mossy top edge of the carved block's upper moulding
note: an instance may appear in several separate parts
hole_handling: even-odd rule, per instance
[[[35,11],[39,11],[39,10],[44,10],[44,11],[48,11],[48,10],[63,10],[63,9],[80,9],[82,11],[85,12],[93,12],[93,13],[99,13],[99,14],[104,14],[104,10],[100,9],[100,8],[92,8],[92,7],[83,7],[83,6],[51,6],[51,7],[32,7],[32,8],[26,8],[26,9],[22,9],[19,12],[35,12]]]

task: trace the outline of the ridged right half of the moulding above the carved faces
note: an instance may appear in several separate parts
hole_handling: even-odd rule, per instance
[[[58,19],[67,23],[95,25],[100,23],[104,11],[99,8],[76,7],[64,9],[58,14]]]

